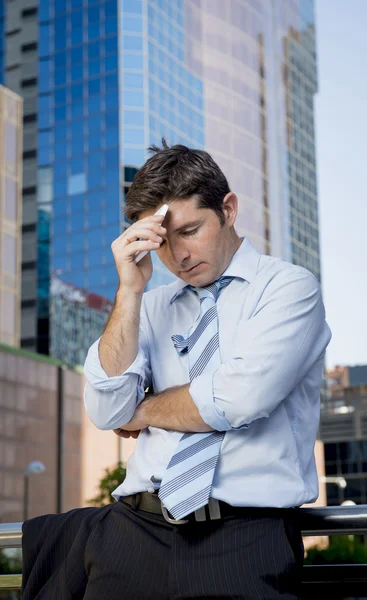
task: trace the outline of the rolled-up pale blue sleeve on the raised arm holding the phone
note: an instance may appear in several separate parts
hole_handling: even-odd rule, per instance
[[[99,429],[117,429],[126,425],[151,385],[149,344],[140,325],[139,350],[134,362],[121,375],[108,377],[99,360],[98,339],[89,349],[84,374],[84,405],[90,420]]]

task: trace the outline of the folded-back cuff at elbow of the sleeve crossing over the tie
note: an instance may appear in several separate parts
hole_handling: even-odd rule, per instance
[[[196,404],[203,421],[216,431],[233,429],[227,421],[225,413],[215,404],[213,394],[214,373],[203,373],[192,380],[189,393]]]

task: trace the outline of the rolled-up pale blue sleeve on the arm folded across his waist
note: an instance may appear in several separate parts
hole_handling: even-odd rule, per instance
[[[238,336],[234,358],[190,385],[202,419],[217,431],[269,417],[325,354],[331,332],[316,278],[280,271]]]

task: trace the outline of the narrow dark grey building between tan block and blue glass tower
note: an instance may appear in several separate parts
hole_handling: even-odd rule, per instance
[[[0,83],[23,98],[21,345],[37,350],[38,2],[0,0]],[[41,238],[41,232],[39,232]]]

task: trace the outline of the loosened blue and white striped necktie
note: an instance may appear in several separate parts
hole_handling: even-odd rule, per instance
[[[200,298],[200,315],[186,335],[173,335],[179,354],[187,354],[190,381],[201,373],[214,373],[221,364],[217,299],[233,277],[221,277],[204,288],[194,288]],[[215,467],[225,432],[185,433],[163,475],[158,493],[175,519],[182,519],[209,502]]]

